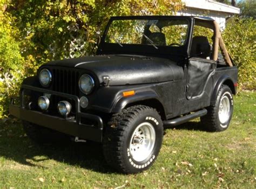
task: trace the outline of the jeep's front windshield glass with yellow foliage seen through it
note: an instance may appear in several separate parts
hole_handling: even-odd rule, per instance
[[[188,22],[184,19],[123,19],[113,20],[106,33],[105,43],[183,46]]]

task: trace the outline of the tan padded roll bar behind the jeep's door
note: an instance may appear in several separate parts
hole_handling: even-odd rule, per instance
[[[226,46],[224,44],[223,38],[221,37],[219,24],[216,21],[213,21],[214,24],[214,41],[213,41],[213,60],[218,60],[219,47],[220,51],[223,54],[223,57],[226,61],[226,64],[230,67],[233,66],[230,55],[228,55]]]

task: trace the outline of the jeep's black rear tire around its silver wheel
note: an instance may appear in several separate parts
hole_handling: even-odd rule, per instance
[[[220,102],[225,99],[226,102],[228,102],[228,113],[226,116],[226,119],[224,118],[224,121],[219,116],[221,113],[221,106]],[[215,103],[212,106],[209,106],[206,108],[207,114],[205,116],[202,116],[201,123],[204,125],[204,127],[209,131],[224,131],[228,128],[230,125],[230,121],[233,114],[233,95],[231,92],[230,87],[227,85],[222,85],[219,89],[217,99]]]

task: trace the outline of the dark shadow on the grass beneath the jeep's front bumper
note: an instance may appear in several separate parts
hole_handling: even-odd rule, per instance
[[[47,160],[102,173],[115,172],[103,156],[102,144],[95,142],[75,143],[70,140],[55,144],[37,144],[25,136],[21,124],[0,125],[0,158],[14,160],[27,166],[48,169]]]

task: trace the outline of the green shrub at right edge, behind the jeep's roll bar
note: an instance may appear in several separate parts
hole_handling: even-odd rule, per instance
[[[240,89],[256,89],[256,20],[234,17],[228,20],[223,38],[238,66]]]

